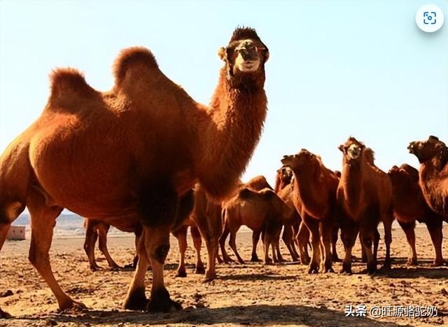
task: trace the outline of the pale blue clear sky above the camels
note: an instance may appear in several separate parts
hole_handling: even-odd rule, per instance
[[[387,171],[407,162],[409,141],[448,141],[448,17],[422,32],[427,1],[0,1],[0,151],[40,115],[48,74],[76,67],[106,91],[111,64],[146,46],[160,69],[209,103],[222,66],[217,51],[237,26],[269,48],[265,129],[243,176],[274,183],[282,155],[301,148],[341,169],[350,135]]]

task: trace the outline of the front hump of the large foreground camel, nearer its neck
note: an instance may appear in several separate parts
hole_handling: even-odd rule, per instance
[[[136,46],[121,50],[120,55],[113,63],[113,76],[116,79],[116,85],[120,85],[125,79],[126,72],[133,67],[146,67],[147,69],[158,68],[153,53],[148,48]]]

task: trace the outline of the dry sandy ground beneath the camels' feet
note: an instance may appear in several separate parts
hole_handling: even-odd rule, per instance
[[[384,256],[381,242],[379,258]],[[445,228],[444,235],[447,235]],[[373,275],[363,272],[365,265],[356,260],[353,274],[307,274],[307,267],[297,263],[263,265],[246,263],[218,265],[218,279],[203,283],[203,276],[194,273],[195,253],[189,239],[187,251],[188,277],[175,277],[177,242],[165,268],[165,281],[172,298],[183,305],[174,314],[148,314],[120,309],[132,277],[132,271],[111,271],[97,252],[104,270],[90,272],[83,251],[83,239],[54,239],[50,258],[56,279],[62,288],[87,308],[83,312],[57,312],[57,303],[50,289],[27,260],[29,240],[7,241],[1,252],[0,292],[13,295],[0,298],[1,307],[13,319],[0,320],[0,326],[90,326],[90,325],[303,325],[303,326],[422,326],[448,325],[448,269],[430,267],[433,247],[426,228],[416,228],[419,265],[407,267],[408,247],[400,228],[393,230],[393,269]],[[237,236],[243,258],[250,258],[251,233]],[[446,243],[446,242],[445,242]],[[283,244],[282,244],[283,246]],[[342,244],[339,256],[343,255]],[[120,265],[130,263],[134,253],[131,235],[110,237],[109,250]],[[282,248],[289,258],[286,248]],[[231,251],[229,249],[229,251]],[[231,253],[231,252],[229,252]],[[259,256],[262,249],[259,245]],[[444,246],[444,256],[448,251]],[[353,253],[360,256],[357,244]],[[203,246],[202,257],[207,262]],[[341,269],[335,263],[335,270]],[[148,272],[148,282],[151,272]],[[366,317],[346,317],[346,305],[367,306]],[[368,312],[381,306],[437,306],[432,317],[383,316],[375,319]],[[389,314],[390,315],[390,314]]]

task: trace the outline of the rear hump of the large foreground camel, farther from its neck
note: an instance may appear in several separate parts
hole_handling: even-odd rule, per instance
[[[50,74],[50,103],[53,107],[76,107],[76,99],[97,94],[85,81],[84,75],[74,68],[54,69]]]

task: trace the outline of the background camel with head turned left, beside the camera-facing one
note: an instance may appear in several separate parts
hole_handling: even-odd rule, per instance
[[[311,232],[313,254],[308,272],[318,272],[321,263],[323,272],[333,272],[330,248],[337,210],[337,176],[323,165],[320,157],[304,148],[296,155],[284,155],[281,163],[293,169],[294,205]]]

